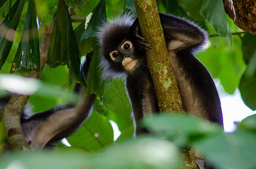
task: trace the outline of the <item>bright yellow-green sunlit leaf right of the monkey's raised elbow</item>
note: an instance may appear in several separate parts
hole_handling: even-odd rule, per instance
[[[196,57],[209,70],[213,78],[219,78],[225,92],[233,94],[240,83],[246,64],[242,58],[241,39],[233,37],[231,48],[228,39],[209,38],[211,46]]]

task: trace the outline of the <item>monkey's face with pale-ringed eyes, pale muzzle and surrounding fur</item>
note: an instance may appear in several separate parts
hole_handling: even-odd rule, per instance
[[[117,23],[106,24],[98,34],[101,45],[103,76],[118,77],[133,73],[145,60],[145,51],[136,44],[131,25],[133,20],[120,19]]]

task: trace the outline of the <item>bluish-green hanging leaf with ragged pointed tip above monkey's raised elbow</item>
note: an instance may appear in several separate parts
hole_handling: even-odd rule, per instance
[[[232,45],[232,34],[225,16],[222,0],[203,0],[200,14],[215,29],[220,37],[228,38]]]

